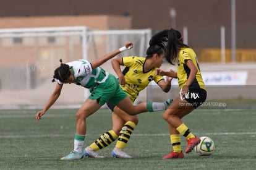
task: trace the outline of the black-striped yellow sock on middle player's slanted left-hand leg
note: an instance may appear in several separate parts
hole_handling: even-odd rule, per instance
[[[90,147],[97,151],[102,148],[108,147],[108,145],[114,142],[118,136],[113,130],[109,130],[108,132],[101,135],[95,142],[93,142]]]

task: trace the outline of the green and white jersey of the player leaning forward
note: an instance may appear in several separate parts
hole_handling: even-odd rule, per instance
[[[67,62],[66,64],[69,65],[74,75],[74,83],[90,90],[96,87],[97,84],[104,83],[108,79],[108,72],[101,67],[93,69],[91,62],[88,60],[79,59],[77,61]],[[58,83],[59,85],[63,84],[59,80]]]

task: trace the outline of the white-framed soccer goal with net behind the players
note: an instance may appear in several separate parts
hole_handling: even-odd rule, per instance
[[[145,56],[151,30],[90,30],[87,27],[0,29],[0,109],[41,108],[54,90],[54,69],[76,59],[95,61],[124,46],[134,48],[116,57]],[[111,61],[104,69],[114,74]],[[85,88],[64,85],[55,107],[80,106]]]

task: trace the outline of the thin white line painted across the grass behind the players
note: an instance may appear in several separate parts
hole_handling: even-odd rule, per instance
[[[92,134],[87,134],[87,136]],[[170,134],[132,134],[133,136],[168,136]],[[196,134],[198,135],[198,134]],[[200,135],[256,135],[256,132],[221,132],[221,133],[203,133]],[[92,135],[92,136],[100,136]],[[74,135],[0,135],[0,138],[27,138],[27,137],[74,137]]]

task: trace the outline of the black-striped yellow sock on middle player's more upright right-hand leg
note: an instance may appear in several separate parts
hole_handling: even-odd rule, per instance
[[[128,121],[124,126],[122,127],[122,130],[120,131],[120,135],[118,137],[118,140],[116,142],[116,147],[119,149],[123,149],[126,147],[126,144],[130,138],[130,135],[132,135],[132,132],[134,131],[136,127],[136,124],[134,122]]]

